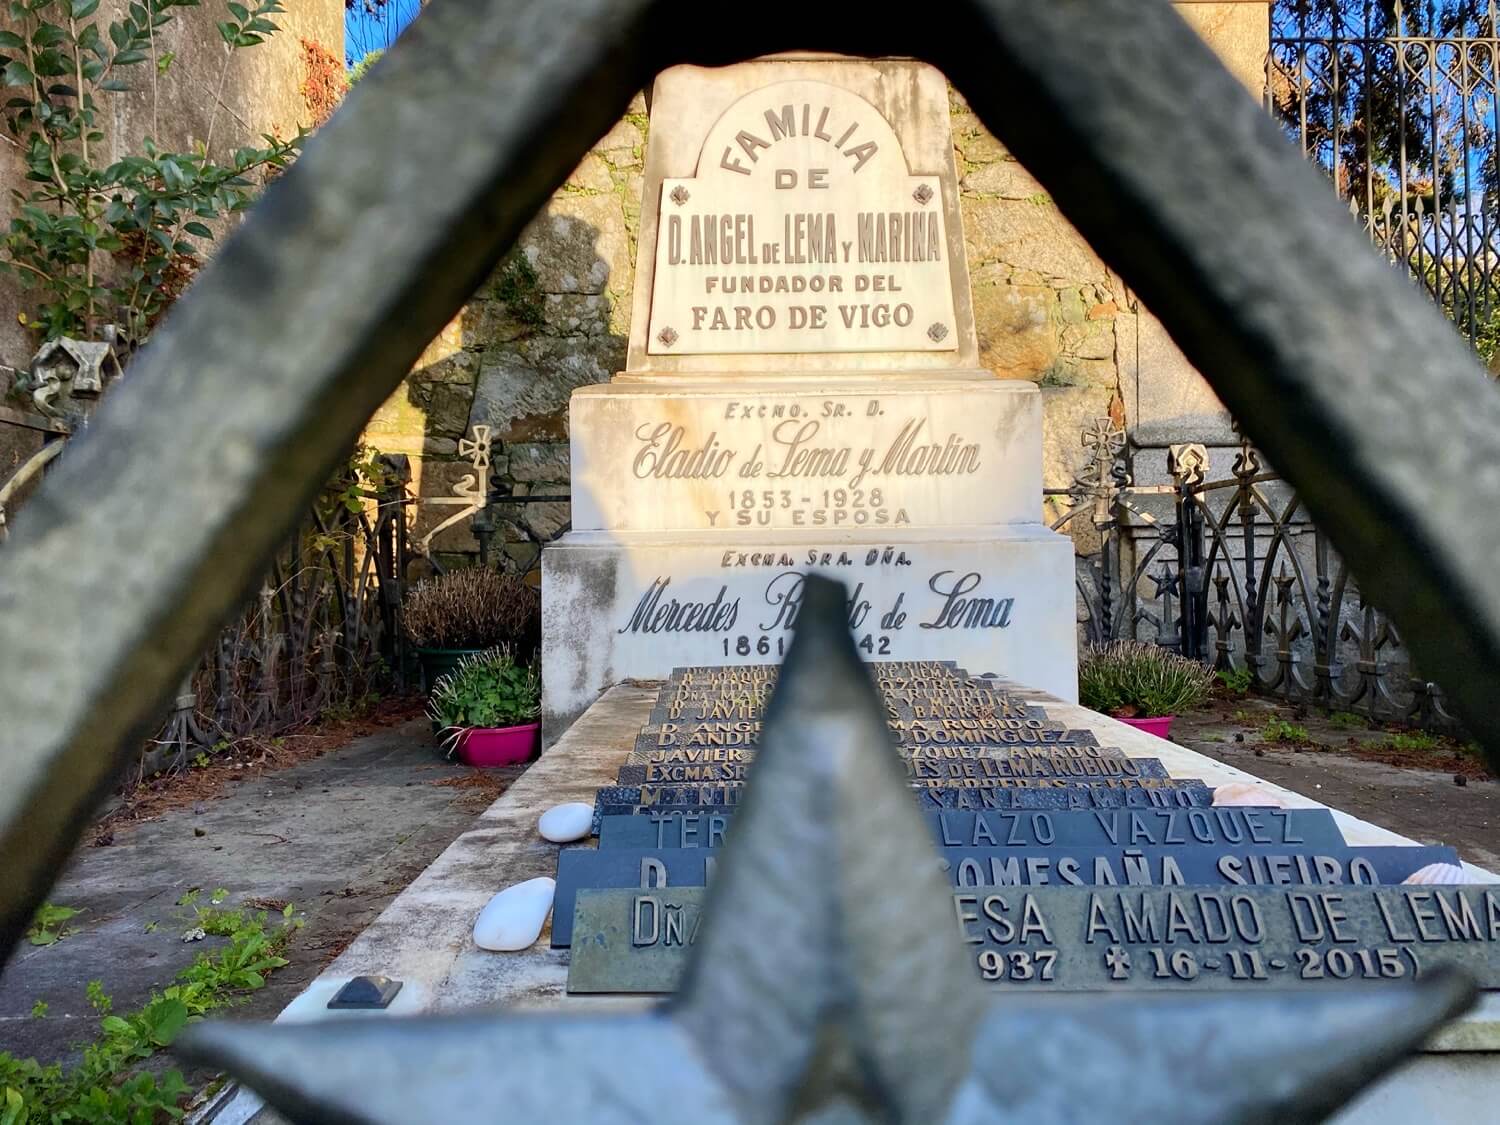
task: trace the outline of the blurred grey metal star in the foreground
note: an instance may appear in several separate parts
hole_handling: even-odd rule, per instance
[[[182,1053],[302,1122],[1304,1122],[1470,1004],[1452,974],[1250,996],[990,992],[844,614],[838,584],[807,579],[669,1002],[208,1023]]]

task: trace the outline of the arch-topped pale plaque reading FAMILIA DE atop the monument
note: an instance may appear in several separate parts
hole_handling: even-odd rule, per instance
[[[646,351],[952,351],[942,183],[856,93],[796,80],[710,129],[662,182]]]

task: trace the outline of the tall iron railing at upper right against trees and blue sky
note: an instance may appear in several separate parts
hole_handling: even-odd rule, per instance
[[[1492,360],[1494,0],[1275,0],[1266,98],[1371,240]]]

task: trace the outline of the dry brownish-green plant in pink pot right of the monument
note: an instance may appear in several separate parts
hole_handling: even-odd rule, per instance
[[[1090,646],[1078,662],[1078,700],[1140,730],[1166,738],[1172,720],[1202,704],[1214,672],[1196,660],[1142,640]]]

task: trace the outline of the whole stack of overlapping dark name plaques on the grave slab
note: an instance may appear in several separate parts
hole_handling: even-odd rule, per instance
[[[1233,788],[1100,746],[957,664],[872,672],[982,981],[1274,988],[1456,963],[1500,986],[1500,892],[1458,885],[1450,848],[1350,846],[1326,808],[1230,804]],[[684,668],[657,693],[618,784],[596,794],[597,844],[558,856],[570,993],[674,988],[776,675]]]

